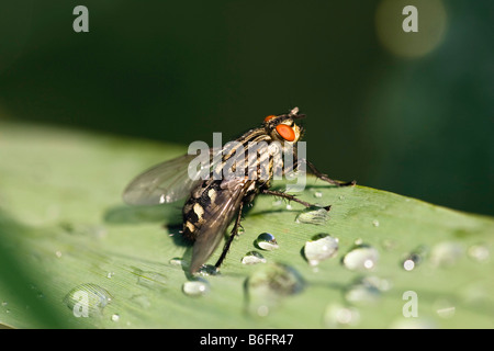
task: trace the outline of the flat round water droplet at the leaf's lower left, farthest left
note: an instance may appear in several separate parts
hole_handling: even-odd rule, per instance
[[[86,283],[74,287],[64,297],[64,303],[75,316],[89,317],[100,315],[103,308],[111,302],[112,295],[103,287]]]

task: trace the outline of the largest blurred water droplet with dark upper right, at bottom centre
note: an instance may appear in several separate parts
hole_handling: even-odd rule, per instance
[[[258,265],[247,279],[248,310],[257,316],[270,314],[283,298],[300,293],[304,287],[301,275],[281,263]]]

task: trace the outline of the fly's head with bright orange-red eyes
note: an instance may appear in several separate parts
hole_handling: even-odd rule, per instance
[[[276,141],[295,145],[302,136],[303,128],[295,124],[295,120],[305,117],[299,114],[299,107],[294,107],[288,114],[269,115],[265,118],[266,133]]]

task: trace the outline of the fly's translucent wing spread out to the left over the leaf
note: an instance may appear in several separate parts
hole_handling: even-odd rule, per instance
[[[189,195],[201,181],[203,172],[209,174],[209,170],[204,169],[189,171],[189,165],[194,158],[198,156],[183,155],[148,169],[127,185],[123,200],[131,205],[157,205]]]

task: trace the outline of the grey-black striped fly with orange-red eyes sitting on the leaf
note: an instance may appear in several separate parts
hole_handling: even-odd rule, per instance
[[[236,139],[234,147],[226,145],[221,150],[209,149],[212,163],[191,177],[190,162],[195,155],[184,155],[159,163],[137,176],[125,189],[123,199],[132,205],[155,205],[176,202],[188,196],[182,210],[182,234],[192,240],[191,273],[203,265],[220,245],[227,226],[234,220],[234,227],[215,264],[220,268],[228,252],[233,239],[238,235],[242,210],[259,194],[267,194],[297,202],[306,207],[313,206],[294,195],[270,190],[271,180],[277,170],[285,176],[305,163],[314,176],[337,186],[355,185],[356,182],[340,182],[319,172],[306,159],[297,160],[297,143],[303,129],[295,121],[304,117],[294,107],[288,114],[269,115],[263,123]],[[262,144],[255,157],[249,152],[252,145]],[[234,158],[234,155],[248,155]],[[259,152],[258,152],[259,151]],[[243,154],[244,152],[244,154]],[[285,165],[287,158],[274,157],[289,152],[295,161]],[[220,155],[220,157],[218,157]],[[235,160],[235,162],[232,162]],[[245,162],[247,160],[247,162]],[[228,171],[228,172],[225,172]],[[200,173],[202,177],[199,177]],[[235,177],[225,177],[235,173]],[[205,174],[205,177],[204,177]],[[223,174],[217,177],[217,174]],[[193,174],[194,176],[194,174]],[[325,207],[329,211],[330,206]]]

